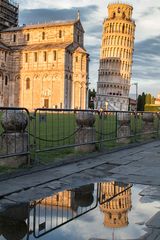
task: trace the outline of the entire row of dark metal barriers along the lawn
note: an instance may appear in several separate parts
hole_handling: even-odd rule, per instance
[[[11,129],[6,130],[3,122],[8,120]],[[19,120],[22,129],[15,130]],[[82,153],[83,146],[94,146],[95,151],[160,136],[160,114],[153,112],[39,108],[29,113],[25,108],[0,108],[0,122],[2,160],[21,155],[31,155],[33,162],[53,160],[59,153]]]

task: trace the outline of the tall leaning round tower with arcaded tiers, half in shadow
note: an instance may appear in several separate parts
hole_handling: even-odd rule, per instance
[[[108,5],[100,51],[97,108],[128,110],[135,35],[132,11],[128,4]]]

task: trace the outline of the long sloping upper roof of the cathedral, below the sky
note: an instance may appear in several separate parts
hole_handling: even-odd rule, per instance
[[[37,28],[45,28],[45,27],[75,25],[78,22],[80,22],[80,20],[76,19],[76,20],[69,20],[69,21],[55,21],[55,22],[48,22],[48,23],[23,25],[18,27],[10,27],[2,30],[1,32],[16,32],[21,30],[29,30],[29,29],[37,29]]]

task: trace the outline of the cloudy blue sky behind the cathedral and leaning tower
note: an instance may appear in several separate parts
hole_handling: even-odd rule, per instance
[[[105,0],[19,0],[20,24],[74,19],[79,9],[85,29],[85,47],[90,54],[90,87],[96,88],[103,19],[107,17]],[[125,1],[126,2],[126,1]],[[136,21],[132,83],[139,93],[160,92],[160,0],[129,0]],[[131,87],[135,92],[135,86]]]

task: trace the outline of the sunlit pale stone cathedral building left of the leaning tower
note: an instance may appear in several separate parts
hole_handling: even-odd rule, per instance
[[[73,21],[3,26],[0,106],[85,109],[88,64],[79,14]]]

